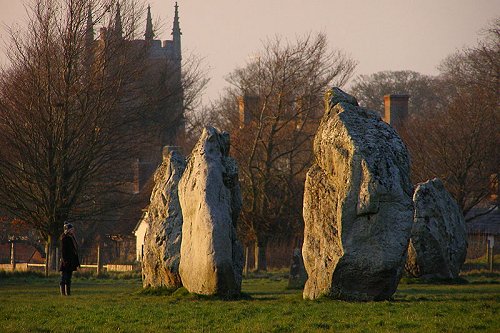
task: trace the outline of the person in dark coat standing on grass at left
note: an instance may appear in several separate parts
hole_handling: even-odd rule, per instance
[[[61,295],[71,295],[71,276],[77,267],[80,267],[78,259],[78,244],[75,239],[75,228],[71,223],[64,222],[64,232],[61,235],[61,282],[59,287]]]

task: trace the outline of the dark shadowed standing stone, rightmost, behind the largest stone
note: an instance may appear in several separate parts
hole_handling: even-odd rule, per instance
[[[465,220],[455,200],[434,178],[418,184],[406,270],[415,277],[456,279],[467,254]]]

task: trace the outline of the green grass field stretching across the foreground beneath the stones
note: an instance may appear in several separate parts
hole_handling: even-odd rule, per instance
[[[500,332],[499,275],[469,283],[405,280],[393,301],[302,300],[281,275],[247,279],[247,297],[223,301],[180,289],[141,292],[135,279],[0,275],[0,332]]]

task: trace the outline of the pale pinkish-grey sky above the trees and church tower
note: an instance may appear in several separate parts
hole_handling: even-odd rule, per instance
[[[22,22],[21,0],[0,0],[5,25]],[[146,0],[170,39],[174,3]],[[211,81],[204,101],[227,86],[225,77],[245,65],[267,37],[290,40],[323,32],[330,46],[358,62],[355,76],[383,70],[437,74],[449,54],[474,46],[500,18],[499,0],[178,0],[183,54],[203,58]],[[3,45],[2,45],[3,46]],[[2,47],[3,52],[4,47]],[[5,57],[0,52],[0,61]]]

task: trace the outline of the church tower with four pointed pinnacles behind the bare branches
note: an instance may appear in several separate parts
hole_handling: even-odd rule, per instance
[[[137,77],[133,78],[140,87],[137,89],[141,91],[138,96],[140,101],[127,101],[123,105],[123,107],[138,108],[140,109],[138,112],[143,113],[141,114],[144,118],[141,128],[131,130],[138,131],[140,135],[151,136],[148,138],[150,139],[148,140],[149,146],[144,147],[141,156],[137,156],[143,166],[146,162],[160,163],[163,146],[171,145],[176,136],[184,130],[181,35],[177,2],[175,3],[172,39],[164,41],[154,39],[150,6],[147,8],[144,39],[135,40],[126,40],[123,37],[119,2],[112,27],[100,28],[98,39],[94,39],[92,13],[89,9],[86,36],[86,48],[90,54],[89,66],[99,62],[99,57],[108,57],[106,52],[102,51],[105,50],[107,44],[118,42],[124,43],[127,50],[132,50],[132,53],[137,53],[141,59],[145,60],[145,67],[140,67],[142,72],[137,73]],[[112,54],[110,58],[119,56]],[[119,68],[120,64],[116,66]],[[150,170],[150,173],[153,170]]]

